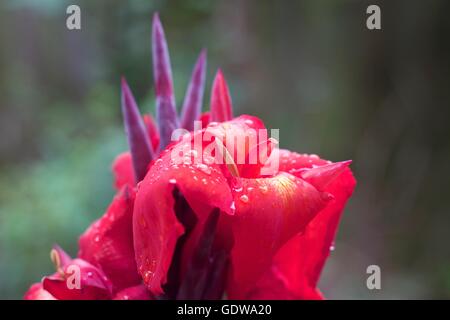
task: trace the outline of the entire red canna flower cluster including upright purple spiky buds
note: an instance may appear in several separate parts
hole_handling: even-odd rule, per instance
[[[113,164],[117,195],[80,237],[76,259],[55,246],[56,273],[31,286],[26,299],[320,299],[317,282],[345,203],[355,187],[350,161],[256,141],[267,158],[241,163],[234,137],[265,130],[252,116],[233,118],[223,74],[211,110],[200,115],[206,53],[197,61],[178,118],[164,31],[153,20],[157,124],[141,117],[122,80],[130,152]],[[203,128],[194,130],[194,121]],[[171,142],[175,129],[187,130]],[[195,141],[208,129],[214,139]],[[194,147],[193,147],[194,146]],[[265,146],[264,148],[262,146]],[[183,161],[173,154],[189,150]],[[277,162],[271,174],[262,168]]]

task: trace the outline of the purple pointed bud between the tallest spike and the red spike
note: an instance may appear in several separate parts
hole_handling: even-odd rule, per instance
[[[202,50],[192,71],[181,113],[181,127],[188,131],[194,129],[194,121],[202,110],[206,76],[206,50]]]

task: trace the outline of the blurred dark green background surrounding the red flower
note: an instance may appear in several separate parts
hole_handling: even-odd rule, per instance
[[[82,30],[66,29],[81,7]],[[365,27],[378,4],[382,30]],[[280,144],[353,159],[356,192],[320,287],[329,298],[450,298],[450,2],[0,2],[0,298],[21,298],[71,254],[113,196],[126,149],[125,75],[154,109],[151,17],[166,29],[178,105],[202,47],[205,107],[223,68],[235,112]],[[382,289],[366,287],[381,267]]]

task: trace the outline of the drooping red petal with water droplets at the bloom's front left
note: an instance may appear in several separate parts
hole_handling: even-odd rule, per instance
[[[230,212],[231,192],[221,169],[205,165],[198,160],[201,155],[189,152],[186,163],[177,163],[172,151],[190,147],[191,140],[172,145],[161,155],[149,170],[136,195],[133,228],[134,247],[139,273],[149,290],[159,295],[161,285],[167,281],[167,272],[172,261],[175,245],[184,228],[174,209],[174,188],[178,188],[189,206],[196,213],[199,223],[193,231],[194,248],[202,230],[202,222],[213,208]],[[192,249],[183,250],[192,255]]]

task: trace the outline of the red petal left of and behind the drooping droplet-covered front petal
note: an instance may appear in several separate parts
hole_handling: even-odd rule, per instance
[[[134,198],[134,190],[123,187],[106,213],[79,240],[78,256],[101,268],[115,291],[141,282],[133,247]]]

